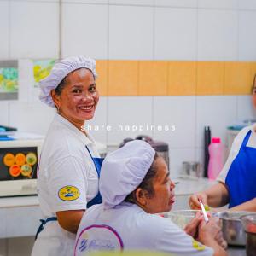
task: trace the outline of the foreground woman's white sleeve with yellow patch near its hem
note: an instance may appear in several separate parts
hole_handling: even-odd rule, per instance
[[[155,247],[166,253],[180,256],[212,256],[213,249],[195,241],[172,222],[162,224],[162,233],[156,241]]]

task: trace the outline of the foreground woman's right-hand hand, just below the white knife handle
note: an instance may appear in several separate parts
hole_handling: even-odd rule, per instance
[[[198,228],[198,240],[205,244],[207,240],[217,240],[216,238],[221,238],[219,233],[221,233],[220,220],[217,217],[209,218],[209,221],[201,221]],[[219,237],[218,237],[219,236]]]

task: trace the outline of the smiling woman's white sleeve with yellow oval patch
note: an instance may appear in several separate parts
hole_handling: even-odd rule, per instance
[[[49,166],[48,189],[52,212],[86,209],[88,167],[74,156],[67,156]]]

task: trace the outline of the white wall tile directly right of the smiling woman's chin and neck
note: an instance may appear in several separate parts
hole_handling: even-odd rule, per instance
[[[90,125],[90,134],[95,138],[96,142],[107,143],[107,124],[108,124],[108,97],[100,96],[94,118],[85,122]]]

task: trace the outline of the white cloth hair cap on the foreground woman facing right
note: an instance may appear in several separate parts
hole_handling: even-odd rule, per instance
[[[155,151],[135,140],[108,154],[102,164],[100,192],[104,208],[112,208],[142,183],[154,160]]]

